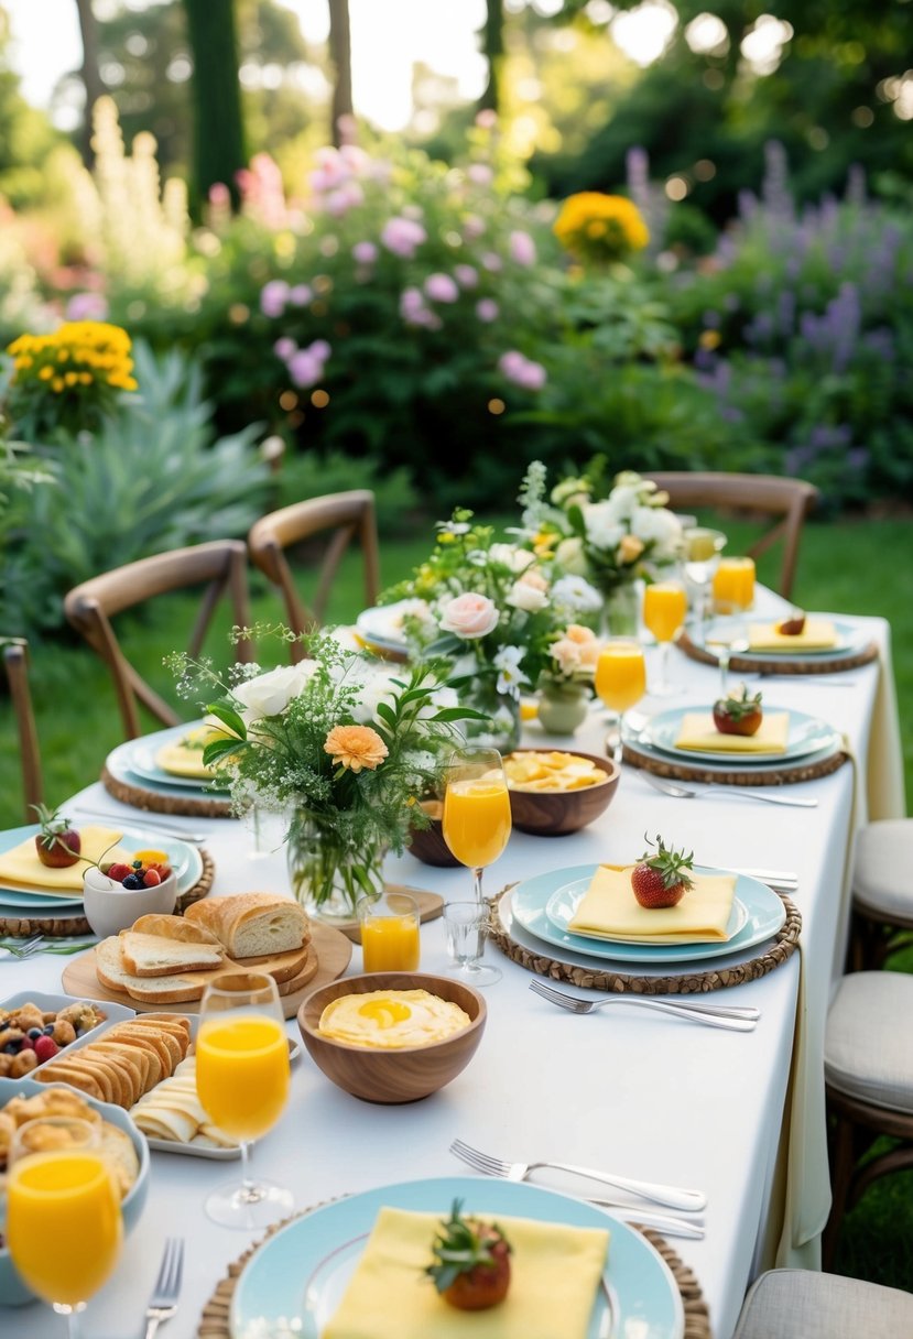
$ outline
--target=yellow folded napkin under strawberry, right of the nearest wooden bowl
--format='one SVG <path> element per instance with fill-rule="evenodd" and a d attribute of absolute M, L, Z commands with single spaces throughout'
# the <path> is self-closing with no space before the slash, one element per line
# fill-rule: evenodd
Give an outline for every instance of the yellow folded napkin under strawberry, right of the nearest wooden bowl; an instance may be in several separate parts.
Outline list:
<path fill-rule="evenodd" d="M 692 874 L 677 907 L 641 907 L 631 886 L 633 865 L 600 865 L 568 921 L 576 935 L 612 940 L 703 944 L 727 940 L 735 874 Z"/>

